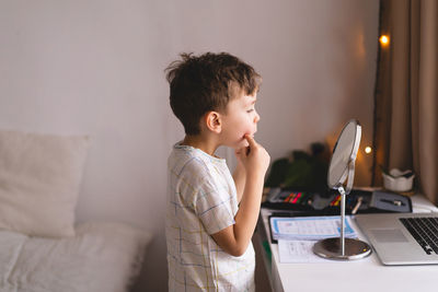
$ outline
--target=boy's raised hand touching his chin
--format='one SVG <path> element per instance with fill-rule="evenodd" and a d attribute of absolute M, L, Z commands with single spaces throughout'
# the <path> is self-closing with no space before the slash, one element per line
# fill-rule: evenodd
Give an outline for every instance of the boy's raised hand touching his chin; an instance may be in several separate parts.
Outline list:
<path fill-rule="evenodd" d="M 239 163 L 242 163 L 246 174 L 257 172 L 264 175 L 269 166 L 269 154 L 250 135 L 245 135 L 245 139 L 249 147 L 235 151 Z"/>

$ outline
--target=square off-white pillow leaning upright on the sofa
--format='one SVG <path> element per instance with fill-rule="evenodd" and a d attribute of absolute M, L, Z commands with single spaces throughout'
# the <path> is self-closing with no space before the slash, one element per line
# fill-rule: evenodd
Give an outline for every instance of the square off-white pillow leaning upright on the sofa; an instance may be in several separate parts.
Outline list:
<path fill-rule="evenodd" d="M 89 139 L 0 130 L 0 229 L 74 235 Z"/>

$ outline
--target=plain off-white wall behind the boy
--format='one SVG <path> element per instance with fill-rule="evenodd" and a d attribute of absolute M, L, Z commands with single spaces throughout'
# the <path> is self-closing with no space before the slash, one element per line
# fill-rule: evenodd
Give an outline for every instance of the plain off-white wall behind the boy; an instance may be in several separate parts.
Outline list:
<path fill-rule="evenodd" d="M 163 69 L 182 51 L 230 51 L 263 75 L 256 139 L 273 160 L 372 135 L 378 0 L 0 2 L 0 128 L 92 138 L 78 221 L 153 232 L 150 291 L 166 287 L 165 163 L 183 137 Z M 359 185 L 370 159 L 358 159 Z"/>

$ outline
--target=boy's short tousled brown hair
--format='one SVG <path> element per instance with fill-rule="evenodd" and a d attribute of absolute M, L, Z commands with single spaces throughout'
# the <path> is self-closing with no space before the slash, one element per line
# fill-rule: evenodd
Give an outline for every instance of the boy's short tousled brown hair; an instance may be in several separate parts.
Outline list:
<path fill-rule="evenodd" d="M 200 132 L 200 118 L 210 110 L 226 113 L 231 98 L 254 94 L 262 78 L 254 68 L 227 54 L 181 54 L 166 69 L 170 104 L 186 135 Z"/>

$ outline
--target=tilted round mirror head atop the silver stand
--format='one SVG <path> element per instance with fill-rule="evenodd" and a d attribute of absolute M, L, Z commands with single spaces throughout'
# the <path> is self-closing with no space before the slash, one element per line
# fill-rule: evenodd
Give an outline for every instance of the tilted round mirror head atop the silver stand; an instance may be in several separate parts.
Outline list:
<path fill-rule="evenodd" d="M 327 184 L 330 188 L 337 188 L 344 184 L 348 165 L 356 160 L 359 149 L 361 128 L 357 120 L 351 119 L 345 125 L 333 149 L 330 161 Z M 349 177 L 348 179 L 353 179 Z"/>

